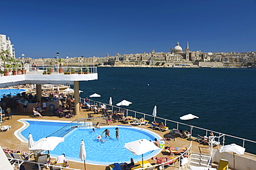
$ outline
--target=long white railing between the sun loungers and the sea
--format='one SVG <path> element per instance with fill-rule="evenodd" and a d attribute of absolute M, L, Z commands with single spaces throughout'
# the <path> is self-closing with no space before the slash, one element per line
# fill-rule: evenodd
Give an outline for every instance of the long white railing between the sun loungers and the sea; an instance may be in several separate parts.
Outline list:
<path fill-rule="evenodd" d="M 84 99 L 83 98 L 80 98 L 80 102 L 84 102 Z M 101 103 L 103 102 L 98 102 L 98 101 L 95 101 L 95 100 L 89 100 L 90 103 L 99 103 L 98 106 L 100 106 Z M 256 151 L 256 141 L 253 141 L 253 140 L 248 140 L 248 139 L 244 139 L 244 138 L 239 138 L 239 137 L 236 137 L 236 136 L 233 136 L 233 135 L 228 135 L 228 134 L 225 134 L 225 133 L 221 133 L 221 132 L 218 132 L 218 131 L 212 131 L 212 130 L 209 130 L 209 129 L 204 129 L 204 128 L 201 128 L 201 127 L 198 127 L 198 126 L 193 126 L 191 124 L 184 124 L 184 123 L 181 123 L 181 122 L 176 122 L 174 120 L 168 120 L 168 119 L 165 119 L 163 117 L 154 117 L 153 115 L 149 115 L 147 113 L 140 113 L 138 111 L 132 111 L 132 110 L 129 110 L 127 108 L 121 108 L 121 107 L 118 107 L 118 106 L 111 106 L 109 104 L 105 104 L 107 106 L 107 108 L 111 109 L 112 111 L 114 111 L 115 109 L 117 109 L 118 111 L 121 111 L 121 110 L 125 110 L 125 116 L 127 115 L 132 115 L 134 117 L 143 117 L 145 120 L 154 120 L 154 118 L 156 118 L 157 120 L 161 120 L 164 122 L 165 126 L 170 126 L 170 124 L 176 124 L 176 129 L 179 129 L 179 126 L 188 126 L 190 128 L 190 131 L 191 131 L 191 135 L 193 133 L 193 131 L 205 131 L 205 135 L 208 136 L 208 133 L 209 132 L 212 132 L 212 133 L 215 133 L 215 134 L 218 134 L 216 138 L 218 138 L 218 142 L 219 144 L 222 144 L 222 145 L 225 145 L 225 141 L 226 141 L 226 137 L 229 137 L 229 138 L 232 138 L 232 140 L 239 140 L 240 142 L 242 142 L 242 144 L 240 144 L 242 147 L 245 147 L 245 142 L 250 142 L 250 144 L 253 144 L 253 147 L 248 147 L 246 149 L 247 152 L 250 153 L 250 151 Z M 221 142 L 222 141 L 222 142 Z M 232 141 L 233 142 L 233 141 Z"/>

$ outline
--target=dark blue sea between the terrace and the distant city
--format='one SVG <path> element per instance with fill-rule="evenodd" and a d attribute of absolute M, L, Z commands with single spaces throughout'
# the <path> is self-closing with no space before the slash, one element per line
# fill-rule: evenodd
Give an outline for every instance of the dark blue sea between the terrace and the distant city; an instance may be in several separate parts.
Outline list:
<path fill-rule="evenodd" d="M 125 108 L 149 115 L 157 106 L 158 117 L 256 141 L 253 68 L 99 67 L 98 80 L 80 82 L 80 90 L 83 98 L 98 93 L 101 97 L 89 99 L 108 104 L 112 97 L 113 105 L 128 100 L 132 104 Z M 188 113 L 199 119 L 180 120 Z M 226 139 L 226 144 L 234 142 Z"/>

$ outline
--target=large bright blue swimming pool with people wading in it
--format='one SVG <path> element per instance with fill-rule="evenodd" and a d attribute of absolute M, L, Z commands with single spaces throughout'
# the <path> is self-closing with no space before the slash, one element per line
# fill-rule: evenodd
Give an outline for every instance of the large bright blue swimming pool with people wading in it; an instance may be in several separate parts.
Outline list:
<path fill-rule="evenodd" d="M 15 135 L 22 142 L 28 141 L 28 134 L 33 135 L 35 141 L 40 138 L 44 138 L 51 133 L 54 133 L 58 129 L 62 128 L 69 122 L 66 121 L 34 121 L 34 120 L 19 120 L 23 122 L 24 126 L 15 132 Z M 119 139 L 116 139 L 115 128 L 119 129 Z M 111 138 L 102 137 L 103 140 L 107 142 L 99 142 L 96 137 L 101 135 L 104 129 L 109 129 Z M 125 149 L 125 143 L 132 142 L 140 139 L 154 140 L 157 138 L 159 142 L 161 141 L 161 136 L 149 131 L 147 129 L 141 129 L 133 126 L 101 126 L 101 129 L 92 128 L 76 128 L 70 133 L 64 136 L 64 142 L 60 143 L 53 151 L 50 151 L 53 157 L 57 157 L 62 153 L 66 154 L 68 160 L 73 160 L 77 162 L 82 162 L 79 158 L 80 152 L 80 142 L 84 140 L 86 147 L 86 163 L 89 164 L 101 164 L 108 165 L 114 162 L 129 162 L 130 158 L 134 158 L 135 161 L 141 160 L 141 155 L 134 155 L 127 149 Z M 157 155 L 161 152 L 161 149 L 156 151 L 150 151 L 145 153 L 144 159 L 152 158 L 152 156 Z"/>

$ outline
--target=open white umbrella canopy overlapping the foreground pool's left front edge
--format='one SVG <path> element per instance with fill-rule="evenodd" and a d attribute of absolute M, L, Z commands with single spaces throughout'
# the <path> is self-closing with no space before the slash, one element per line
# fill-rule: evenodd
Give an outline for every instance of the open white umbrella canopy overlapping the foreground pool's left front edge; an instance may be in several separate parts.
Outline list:
<path fill-rule="evenodd" d="M 64 138 L 60 137 L 48 137 L 48 138 L 42 138 L 38 140 L 33 147 L 28 148 L 29 150 L 45 150 L 45 151 L 53 151 L 55 147 L 57 147 L 58 144 L 61 142 L 64 142 Z"/>

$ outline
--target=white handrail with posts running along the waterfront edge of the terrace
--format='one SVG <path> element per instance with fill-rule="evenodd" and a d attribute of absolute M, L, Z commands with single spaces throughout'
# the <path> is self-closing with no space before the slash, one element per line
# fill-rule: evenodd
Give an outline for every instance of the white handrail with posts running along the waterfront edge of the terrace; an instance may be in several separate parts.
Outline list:
<path fill-rule="evenodd" d="M 81 98 L 81 101 L 84 102 L 85 99 Z M 95 101 L 95 100 L 89 100 L 89 102 L 93 102 L 93 104 L 95 104 L 96 102 L 97 102 L 97 103 L 104 103 L 104 102 L 98 102 L 98 101 Z M 175 124 L 176 124 L 176 129 L 179 129 L 179 125 L 181 124 L 181 125 L 190 127 L 191 131 L 193 131 L 193 129 L 200 129 L 200 130 L 206 131 L 206 135 L 207 135 L 207 133 L 208 133 L 209 131 L 212 132 L 212 133 L 217 133 L 217 134 L 219 134 L 219 136 L 217 137 L 217 138 L 219 138 L 219 140 L 220 140 L 220 138 L 223 138 L 222 145 L 225 144 L 225 140 L 226 140 L 225 137 L 230 137 L 230 138 L 235 138 L 235 139 L 237 139 L 237 140 L 242 140 L 242 142 L 243 142 L 242 147 L 245 147 L 245 142 L 252 142 L 252 143 L 256 144 L 256 141 L 248 140 L 248 139 L 245 139 L 245 138 L 240 138 L 240 137 L 237 137 L 237 136 L 234 136 L 234 135 L 228 135 L 228 134 L 226 134 L 226 133 L 221 133 L 221 132 L 218 132 L 218 131 L 212 131 L 212 130 L 209 130 L 209 129 L 204 129 L 204 128 L 201 128 L 201 127 L 199 127 L 199 126 L 193 126 L 193 125 L 190 125 L 190 124 L 185 124 L 185 123 L 177 122 L 177 121 L 174 121 L 174 120 L 168 120 L 168 119 L 163 118 L 163 117 L 157 117 L 157 116 L 154 117 L 153 115 L 149 115 L 149 114 L 147 114 L 147 113 L 140 113 L 140 112 L 138 112 L 138 111 L 132 111 L 132 110 L 129 110 L 129 109 L 127 109 L 127 108 L 121 108 L 121 107 L 113 106 L 113 105 L 109 105 L 109 104 L 105 104 L 105 105 L 106 105 L 107 107 L 111 108 L 112 111 L 113 111 L 113 109 L 115 109 L 115 108 L 117 108 L 119 111 L 120 111 L 121 109 L 124 109 L 124 110 L 125 110 L 125 113 L 126 113 L 126 114 L 125 114 L 126 116 L 128 115 L 128 113 L 134 113 L 134 117 L 136 117 L 136 114 L 139 114 L 139 115 L 143 115 L 144 119 L 146 118 L 146 116 L 147 116 L 147 117 L 156 118 L 156 119 L 159 119 L 159 120 L 163 120 L 163 121 L 165 122 L 165 126 L 166 126 L 167 122 L 175 123 Z M 192 134 L 191 134 L 191 135 L 192 135 Z M 219 141 L 219 142 L 220 142 L 220 141 Z M 248 151 L 248 149 L 247 149 L 247 151 Z"/>

